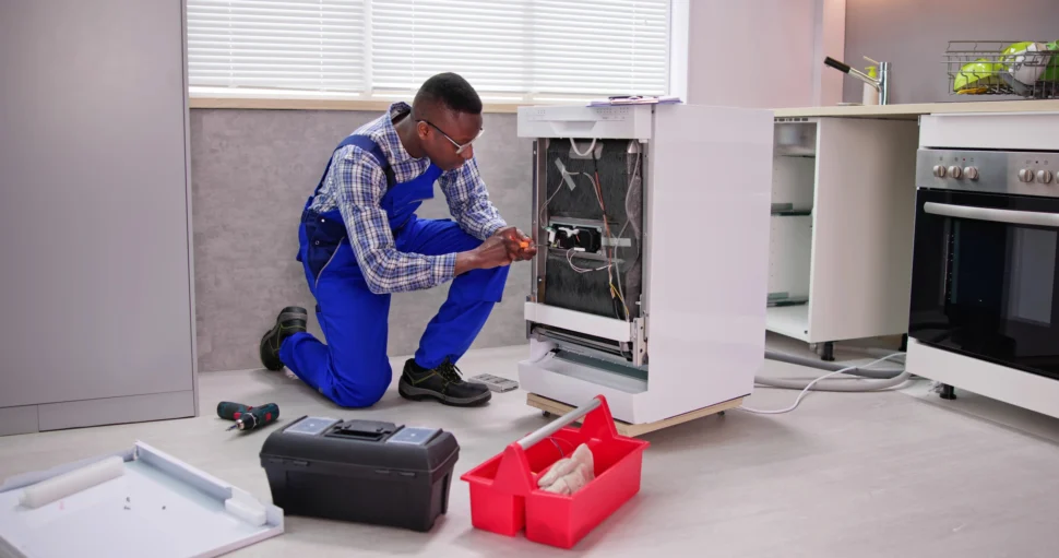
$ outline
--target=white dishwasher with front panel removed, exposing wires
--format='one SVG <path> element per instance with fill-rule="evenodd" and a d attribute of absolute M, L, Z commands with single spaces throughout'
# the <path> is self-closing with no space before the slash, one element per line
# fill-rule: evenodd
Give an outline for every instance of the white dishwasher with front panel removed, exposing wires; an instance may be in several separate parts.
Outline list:
<path fill-rule="evenodd" d="M 764 358 L 773 116 L 519 110 L 534 140 L 531 393 L 645 424 L 749 395 Z"/>

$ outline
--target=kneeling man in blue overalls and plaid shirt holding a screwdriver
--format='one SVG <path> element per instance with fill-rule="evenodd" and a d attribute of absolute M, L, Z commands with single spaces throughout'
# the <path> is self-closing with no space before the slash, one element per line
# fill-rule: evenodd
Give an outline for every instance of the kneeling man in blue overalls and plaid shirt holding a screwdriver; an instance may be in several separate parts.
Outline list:
<path fill-rule="evenodd" d="M 500 301 L 508 265 L 536 248 L 489 201 L 474 158 L 481 131 L 478 94 L 443 73 L 423 84 L 410 107 L 392 105 L 338 144 L 298 230 L 298 261 L 328 344 L 306 332 L 304 308 L 284 308 L 261 340 L 266 368 L 288 367 L 338 405 L 370 406 L 392 379 L 391 294 L 452 280 L 398 392 L 449 405 L 489 401 L 488 388 L 464 381 L 455 364 Z M 455 221 L 415 215 L 435 181 Z"/>

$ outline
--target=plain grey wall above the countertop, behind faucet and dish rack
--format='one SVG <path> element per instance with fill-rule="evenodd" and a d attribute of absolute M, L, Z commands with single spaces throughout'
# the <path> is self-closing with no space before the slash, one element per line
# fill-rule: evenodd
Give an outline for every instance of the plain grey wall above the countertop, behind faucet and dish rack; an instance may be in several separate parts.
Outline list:
<path fill-rule="evenodd" d="M 950 40 L 1059 39 L 1059 0 L 846 0 L 846 58 L 893 62 L 892 103 L 983 100 L 949 94 Z M 843 98 L 859 103 L 864 84 L 846 78 Z"/>

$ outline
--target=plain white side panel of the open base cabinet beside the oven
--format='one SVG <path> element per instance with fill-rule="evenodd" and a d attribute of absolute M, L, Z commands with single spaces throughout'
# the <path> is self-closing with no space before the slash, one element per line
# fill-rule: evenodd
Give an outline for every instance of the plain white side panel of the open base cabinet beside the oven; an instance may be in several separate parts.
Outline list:
<path fill-rule="evenodd" d="M 809 342 L 908 329 L 916 200 L 915 120 L 821 118 Z"/>

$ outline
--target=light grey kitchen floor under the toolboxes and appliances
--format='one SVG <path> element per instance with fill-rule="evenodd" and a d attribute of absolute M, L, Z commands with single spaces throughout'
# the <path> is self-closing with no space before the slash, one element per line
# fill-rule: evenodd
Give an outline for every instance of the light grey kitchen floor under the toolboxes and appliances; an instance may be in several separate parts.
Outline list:
<path fill-rule="evenodd" d="M 525 347 L 478 351 L 462 364 L 468 375 L 514 377 L 524 354 Z M 817 371 L 766 361 L 764 373 Z M 405 402 L 391 392 L 376 408 L 356 412 L 262 370 L 202 375 L 200 389 L 198 418 L 0 438 L 0 478 L 139 439 L 269 499 L 258 462 L 266 432 L 225 431 L 228 423 L 212 408 L 221 400 L 273 401 L 282 420 L 312 414 L 440 426 L 461 444 L 457 476 L 545 423 L 521 391 L 498 394 L 477 409 Z M 1055 556 L 1048 547 L 1059 544 L 1059 422 L 960 395 L 942 401 L 923 381 L 900 392 L 813 393 L 785 415 L 733 411 L 649 435 L 641 492 L 574 554 Z M 785 407 L 794 396 L 760 389 L 748 404 Z M 429 534 L 287 517 L 285 534 L 231 556 L 501 553 L 571 554 L 473 530 L 467 487 L 456 479 L 449 513 Z"/>

